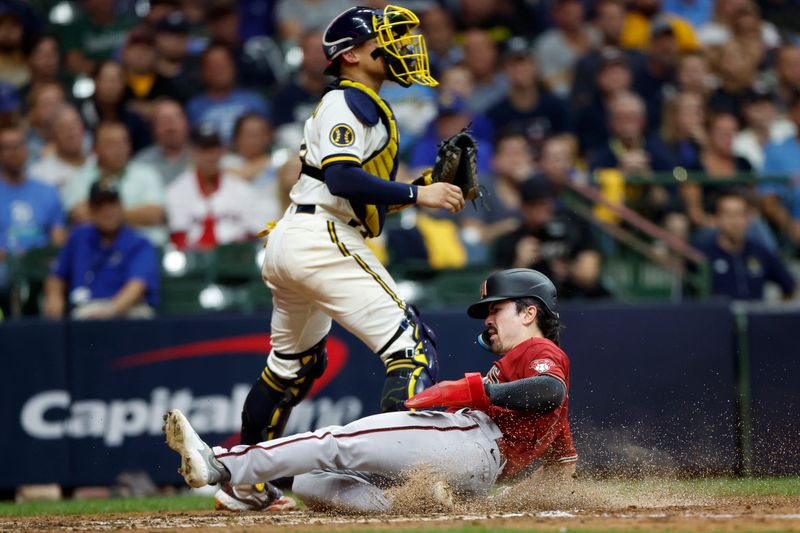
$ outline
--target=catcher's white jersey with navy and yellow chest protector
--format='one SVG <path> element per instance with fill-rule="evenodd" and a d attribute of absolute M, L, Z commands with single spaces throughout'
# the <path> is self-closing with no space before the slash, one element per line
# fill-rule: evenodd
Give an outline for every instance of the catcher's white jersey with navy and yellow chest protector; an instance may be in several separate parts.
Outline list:
<path fill-rule="evenodd" d="M 387 206 L 334 196 L 322 170 L 333 163 L 352 162 L 393 181 L 397 151 L 397 125 L 389 105 L 360 83 L 337 80 L 306 120 L 300 149 L 303 171 L 290 197 L 296 204 L 321 206 L 345 221 L 357 219 L 370 236 L 376 236 L 383 228 Z"/>

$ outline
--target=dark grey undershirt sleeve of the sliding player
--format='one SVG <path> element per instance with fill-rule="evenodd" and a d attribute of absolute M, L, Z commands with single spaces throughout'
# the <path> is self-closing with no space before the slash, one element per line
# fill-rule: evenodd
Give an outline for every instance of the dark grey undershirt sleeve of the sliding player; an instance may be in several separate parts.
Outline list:
<path fill-rule="evenodd" d="M 509 383 L 487 383 L 485 388 L 492 405 L 537 414 L 555 410 L 564 402 L 567 394 L 564 384 L 552 376 L 536 376 Z"/>

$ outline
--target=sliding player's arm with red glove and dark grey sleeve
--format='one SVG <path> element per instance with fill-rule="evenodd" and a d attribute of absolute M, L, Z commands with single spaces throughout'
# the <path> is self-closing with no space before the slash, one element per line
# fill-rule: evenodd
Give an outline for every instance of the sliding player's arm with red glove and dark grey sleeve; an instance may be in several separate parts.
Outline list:
<path fill-rule="evenodd" d="M 564 403 L 567 390 L 553 376 L 534 376 L 509 383 L 484 383 L 476 373 L 464 375 L 458 381 L 442 381 L 406 401 L 406 407 L 476 407 L 490 405 L 515 411 L 546 414 Z"/>

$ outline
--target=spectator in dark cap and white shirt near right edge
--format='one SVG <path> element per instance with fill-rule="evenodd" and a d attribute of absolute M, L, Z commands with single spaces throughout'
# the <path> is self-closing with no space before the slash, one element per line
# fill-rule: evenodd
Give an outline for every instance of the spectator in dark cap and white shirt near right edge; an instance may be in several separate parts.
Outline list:
<path fill-rule="evenodd" d="M 777 96 L 761 84 L 750 87 L 742 101 L 744 129 L 733 140 L 733 151 L 754 169 L 764 166 L 767 144 L 781 143 L 797 133 L 794 123 L 778 114 L 776 101 Z"/>

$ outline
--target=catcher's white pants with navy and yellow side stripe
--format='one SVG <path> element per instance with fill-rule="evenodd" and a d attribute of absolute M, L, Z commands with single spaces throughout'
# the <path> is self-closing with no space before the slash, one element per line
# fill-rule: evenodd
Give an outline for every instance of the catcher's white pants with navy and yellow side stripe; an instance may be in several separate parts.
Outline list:
<path fill-rule="evenodd" d="M 397 284 L 356 228 L 320 207 L 316 214 L 294 210 L 290 206 L 270 232 L 262 267 L 272 290 L 273 351 L 309 349 L 328 334 L 334 319 L 378 352 L 405 317 Z M 414 348 L 412 335 L 408 328 L 383 355 Z M 270 353 L 267 366 L 292 379 L 301 364 Z"/>

